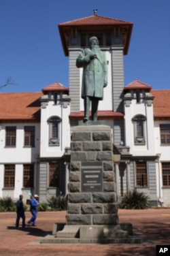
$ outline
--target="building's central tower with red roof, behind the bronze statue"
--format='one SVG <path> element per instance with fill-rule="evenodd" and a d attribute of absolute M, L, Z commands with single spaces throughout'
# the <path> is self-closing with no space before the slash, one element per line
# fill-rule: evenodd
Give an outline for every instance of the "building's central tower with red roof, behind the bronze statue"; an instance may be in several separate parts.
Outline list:
<path fill-rule="evenodd" d="M 82 120 L 84 104 L 81 99 L 82 69 L 75 65 L 82 48 L 88 47 L 88 39 L 96 36 L 101 50 L 106 52 L 108 84 L 103 101 L 99 103 L 99 119 L 109 120 L 114 129 L 114 143 L 124 140 L 122 91 L 124 89 L 124 54 L 128 53 L 133 29 L 132 22 L 94 15 L 58 25 L 65 56 L 69 57 L 69 95 L 71 97 L 71 127 Z M 115 120 L 115 121 L 113 121 Z"/>

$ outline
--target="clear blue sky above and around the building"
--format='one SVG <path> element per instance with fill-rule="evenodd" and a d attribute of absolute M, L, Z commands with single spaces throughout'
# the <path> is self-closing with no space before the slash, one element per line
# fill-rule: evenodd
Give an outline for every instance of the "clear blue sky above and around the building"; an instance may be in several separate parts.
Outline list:
<path fill-rule="evenodd" d="M 0 0 L 0 92 L 31 92 L 55 81 L 69 86 L 58 24 L 93 15 L 133 22 L 124 84 L 135 79 L 170 89 L 169 0 Z"/>

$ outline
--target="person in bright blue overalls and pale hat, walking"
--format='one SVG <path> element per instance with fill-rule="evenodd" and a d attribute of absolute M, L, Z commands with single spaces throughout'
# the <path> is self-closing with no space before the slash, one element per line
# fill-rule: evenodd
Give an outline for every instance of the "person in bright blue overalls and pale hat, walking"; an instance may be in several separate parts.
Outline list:
<path fill-rule="evenodd" d="M 30 200 L 30 212 L 32 214 L 31 219 L 28 221 L 29 225 L 36 226 L 36 220 L 37 220 L 37 208 L 39 206 L 38 202 L 39 196 L 38 195 L 31 195 Z"/>

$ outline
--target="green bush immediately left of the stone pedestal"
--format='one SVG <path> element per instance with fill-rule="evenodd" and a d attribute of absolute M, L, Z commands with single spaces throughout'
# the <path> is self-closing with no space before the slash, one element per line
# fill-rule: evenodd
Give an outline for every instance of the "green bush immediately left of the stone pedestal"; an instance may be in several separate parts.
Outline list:
<path fill-rule="evenodd" d="M 67 210 L 67 196 L 59 195 L 56 197 L 52 195 L 48 200 L 48 205 L 52 210 Z"/>

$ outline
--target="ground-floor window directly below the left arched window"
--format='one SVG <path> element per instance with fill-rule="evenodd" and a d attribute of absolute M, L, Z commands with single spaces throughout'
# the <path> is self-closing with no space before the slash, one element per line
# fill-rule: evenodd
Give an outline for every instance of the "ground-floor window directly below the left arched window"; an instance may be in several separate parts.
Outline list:
<path fill-rule="evenodd" d="M 49 187 L 60 186 L 60 163 L 49 163 Z"/>

